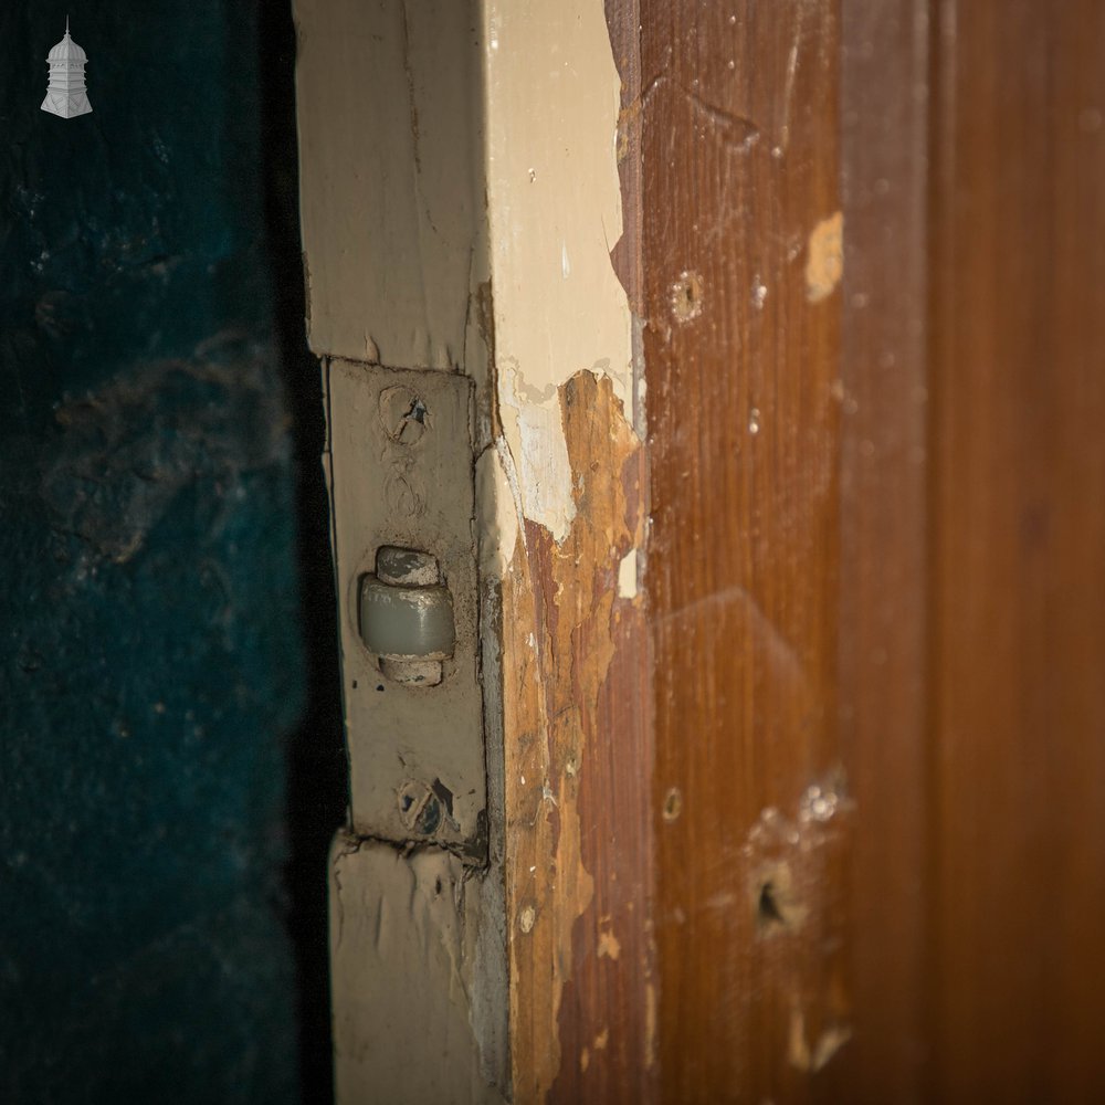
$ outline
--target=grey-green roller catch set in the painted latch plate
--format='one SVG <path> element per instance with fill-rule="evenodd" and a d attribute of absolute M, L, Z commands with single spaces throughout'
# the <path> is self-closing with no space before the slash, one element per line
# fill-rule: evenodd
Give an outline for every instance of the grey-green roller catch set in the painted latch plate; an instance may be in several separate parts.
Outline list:
<path fill-rule="evenodd" d="M 382 546 L 360 581 L 360 639 L 397 683 L 436 686 L 453 654 L 453 598 L 429 552 Z"/>

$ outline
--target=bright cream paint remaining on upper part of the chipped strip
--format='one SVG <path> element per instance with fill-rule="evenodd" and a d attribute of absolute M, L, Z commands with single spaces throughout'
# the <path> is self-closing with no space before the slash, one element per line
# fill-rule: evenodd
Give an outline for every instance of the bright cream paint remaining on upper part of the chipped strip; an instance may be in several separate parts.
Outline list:
<path fill-rule="evenodd" d="M 620 80 L 602 0 L 483 11 L 499 414 L 523 513 L 560 543 L 575 515 L 560 385 L 608 376 L 631 409 L 631 315 L 610 263 Z"/>

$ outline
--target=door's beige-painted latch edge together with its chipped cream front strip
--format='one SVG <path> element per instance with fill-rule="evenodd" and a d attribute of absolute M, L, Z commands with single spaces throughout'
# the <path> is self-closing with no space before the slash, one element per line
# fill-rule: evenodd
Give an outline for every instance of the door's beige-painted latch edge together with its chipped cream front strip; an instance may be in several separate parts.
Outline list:
<path fill-rule="evenodd" d="M 330 862 L 338 1099 L 540 1101 L 615 1048 L 646 1072 L 648 862 L 610 870 L 601 812 L 610 727 L 641 751 L 646 734 L 610 691 L 641 655 L 646 503 L 603 6 L 294 11 L 351 762 Z M 433 686 L 364 644 L 386 545 L 432 556 L 449 588 Z M 624 772 L 642 856 L 648 785 L 646 760 Z"/>

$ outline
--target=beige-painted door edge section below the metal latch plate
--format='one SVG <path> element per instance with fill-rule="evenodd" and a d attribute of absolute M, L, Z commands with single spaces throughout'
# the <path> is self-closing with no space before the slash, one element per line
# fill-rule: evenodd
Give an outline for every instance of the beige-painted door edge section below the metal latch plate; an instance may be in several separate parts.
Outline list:
<path fill-rule="evenodd" d="M 337 1099 L 506 1099 L 499 955 L 482 946 L 487 882 L 440 849 L 409 855 L 339 833 L 330 853 Z M 477 1015 L 478 1014 L 478 1015 Z M 423 1042 L 418 1062 L 409 1044 Z"/>

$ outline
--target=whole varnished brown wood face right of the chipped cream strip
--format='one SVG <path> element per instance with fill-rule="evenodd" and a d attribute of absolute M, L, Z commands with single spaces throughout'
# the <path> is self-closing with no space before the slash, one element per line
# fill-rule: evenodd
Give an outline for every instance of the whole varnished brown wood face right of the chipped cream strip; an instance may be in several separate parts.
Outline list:
<path fill-rule="evenodd" d="M 1105 7 L 839 10 L 641 11 L 662 1096 L 1095 1099 Z"/>

